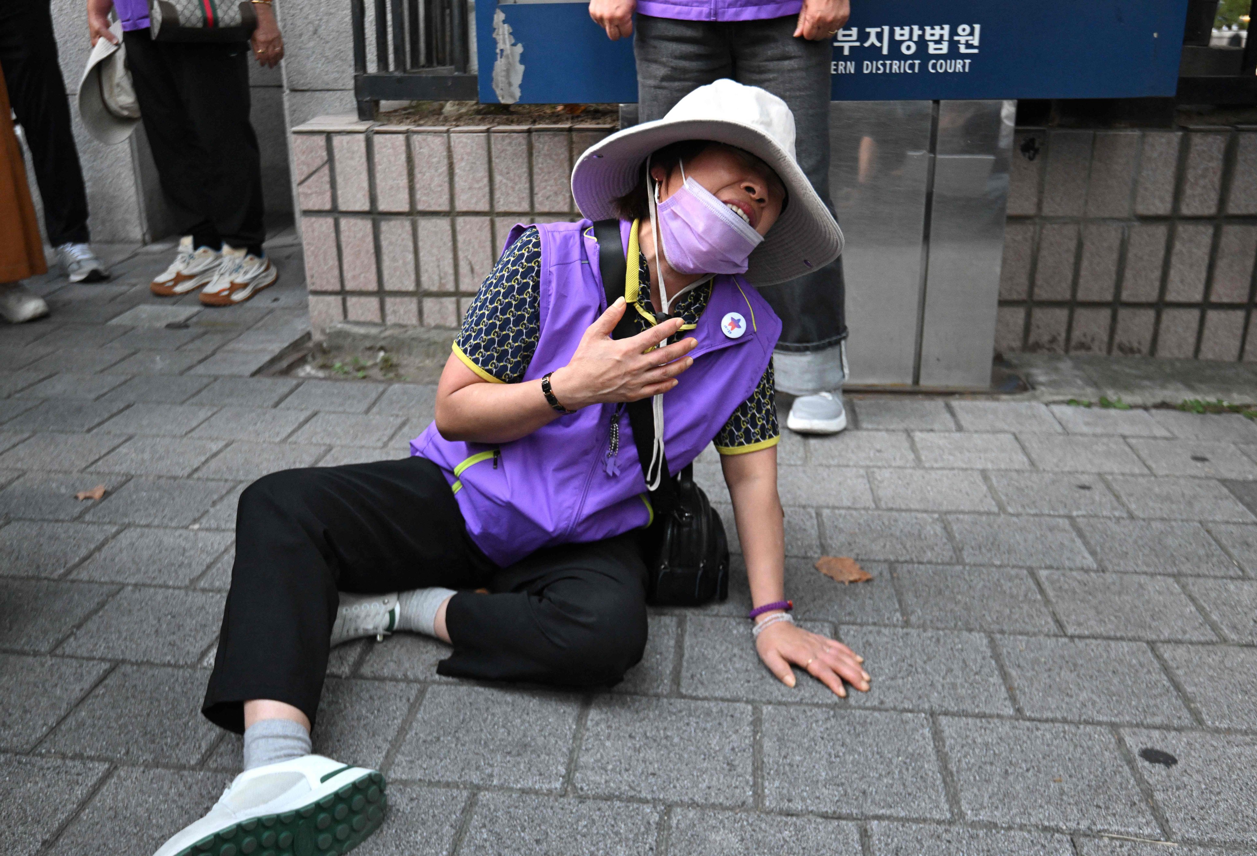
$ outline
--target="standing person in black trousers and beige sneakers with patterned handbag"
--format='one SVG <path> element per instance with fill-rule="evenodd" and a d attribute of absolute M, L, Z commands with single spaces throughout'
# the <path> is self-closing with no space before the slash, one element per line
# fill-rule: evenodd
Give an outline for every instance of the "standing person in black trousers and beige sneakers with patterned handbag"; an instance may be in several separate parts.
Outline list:
<path fill-rule="evenodd" d="M 224 0 L 206 0 L 212 6 Z M 150 284 L 158 297 L 201 289 L 205 305 L 243 303 L 279 273 L 261 249 L 261 155 L 249 121 L 250 47 L 260 65 L 284 58 L 272 0 L 251 0 L 250 41 L 157 41 L 147 0 L 87 0 L 92 44 L 117 43 L 109 10 L 122 23 L 127 68 L 152 148 L 157 177 L 182 236 L 171 265 Z"/>

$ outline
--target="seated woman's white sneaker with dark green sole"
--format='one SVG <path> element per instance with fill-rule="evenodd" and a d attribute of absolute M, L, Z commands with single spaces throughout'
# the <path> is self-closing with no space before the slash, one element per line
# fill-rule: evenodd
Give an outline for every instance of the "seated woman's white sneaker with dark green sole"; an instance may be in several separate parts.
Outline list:
<path fill-rule="evenodd" d="M 209 815 L 155 856 L 346 853 L 380 827 L 387 804 L 376 771 L 303 755 L 236 776 Z"/>

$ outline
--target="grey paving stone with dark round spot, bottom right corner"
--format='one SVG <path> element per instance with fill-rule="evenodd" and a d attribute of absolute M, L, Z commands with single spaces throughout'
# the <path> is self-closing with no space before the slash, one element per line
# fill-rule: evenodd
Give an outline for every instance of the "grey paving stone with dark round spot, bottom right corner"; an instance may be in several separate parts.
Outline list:
<path fill-rule="evenodd" d="M 1139 772 L 1174 837 L 1257 843 L 1257 738 L 1123 729 L 1135 755 L 1145 747 L 1178 758 L 1172 767 L 1139 759 Z"/>

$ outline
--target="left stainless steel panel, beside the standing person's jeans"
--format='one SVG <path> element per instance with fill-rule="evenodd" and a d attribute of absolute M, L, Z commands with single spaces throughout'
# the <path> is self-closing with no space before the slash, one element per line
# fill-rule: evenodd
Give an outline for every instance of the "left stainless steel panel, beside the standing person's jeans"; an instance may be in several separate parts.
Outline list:
<path fill-rule="evenodd" d="M 847 240 L 852 383 L 913 382 L 931 117 L 928 101 L 830 107 L 830 190 Z"/>

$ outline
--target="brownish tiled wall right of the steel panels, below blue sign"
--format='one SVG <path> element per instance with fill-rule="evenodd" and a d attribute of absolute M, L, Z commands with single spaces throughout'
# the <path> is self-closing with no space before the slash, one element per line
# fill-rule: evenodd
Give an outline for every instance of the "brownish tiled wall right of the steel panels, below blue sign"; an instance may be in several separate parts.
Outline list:
<path fill-rule="evenodd" d="M 1257 127 L 1018 128 L 1011 181 L 998 351 L 1257 361 Z"/>

